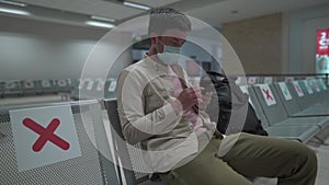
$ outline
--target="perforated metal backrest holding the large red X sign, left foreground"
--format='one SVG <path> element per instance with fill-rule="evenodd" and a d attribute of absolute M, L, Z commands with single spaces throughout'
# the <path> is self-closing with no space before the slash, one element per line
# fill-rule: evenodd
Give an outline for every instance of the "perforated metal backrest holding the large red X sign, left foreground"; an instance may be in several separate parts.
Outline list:
<path fill-rule="evenodd" d="M 53 106 L 53 104 L 49 105 Z M 16 109 L 19 107 L 11 108 Z M 39 111 L 44 109 L 41 106 L 38 108 Z M 5 113 L 7 116 L 0 116 L 3 118 L 0 120 L 0 132 L 2 135 L 0 137 L 0 184 L 105 184 L 103 176 L 104 167 L 100 160 L 100 153 L 90 141 L 91 139 L 83 126 L 84 124 L 93 124 L 92 119 L 90 119 L 88 105 L 80 106 L 79 108 L 71 105 L 71 109 L 78 142 L 81 148 L 81 155 L 22 172 L 19 172 L 16 165 L 18 155 L 15 154 L 12 120 L 8 116 L 9 113 Z M 57 129 L 60 129 L 61 126 Z M 35 134 L 29 131 L 26 132 L 26 139 L 30 138 L 27 136 L 34 137 Z M 52 146 L 52 143 L 47 142 L 43 150 L 49 147 L 47 144 Z M 45 158 L 45 154 L 43 158 Z M 106 181 L 111 185 L 118 185 L 115 183 L 117 181 L 115 174 L 112 174 L 112 178 L 106 178 Z"/>

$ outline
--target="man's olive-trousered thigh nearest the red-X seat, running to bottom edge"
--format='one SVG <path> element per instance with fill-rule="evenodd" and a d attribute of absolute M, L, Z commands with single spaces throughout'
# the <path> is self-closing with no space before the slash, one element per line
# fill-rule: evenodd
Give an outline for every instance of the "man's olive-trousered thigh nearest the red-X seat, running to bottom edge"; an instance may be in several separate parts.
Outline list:
<path fill-rule="evenodd" d="M 160 177 L 169 185 L 252 185 L 216 155 L 217 149 L 212 141 L 188 164 Z"/>

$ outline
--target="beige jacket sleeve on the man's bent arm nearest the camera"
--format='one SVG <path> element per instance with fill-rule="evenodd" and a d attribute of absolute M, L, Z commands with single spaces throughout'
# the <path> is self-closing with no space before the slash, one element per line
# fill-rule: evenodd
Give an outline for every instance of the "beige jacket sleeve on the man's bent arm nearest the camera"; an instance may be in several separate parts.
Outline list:
<path fill-rule="evenodd" d="M 146 82 L 134 71 L 124 70 L 117 80 L 117 111 L 123 135 L 132 144 L 171 131 L 181 118 L 168 102 L 164 102 L 162 107 L 145 114 L 145 86 Z"/>

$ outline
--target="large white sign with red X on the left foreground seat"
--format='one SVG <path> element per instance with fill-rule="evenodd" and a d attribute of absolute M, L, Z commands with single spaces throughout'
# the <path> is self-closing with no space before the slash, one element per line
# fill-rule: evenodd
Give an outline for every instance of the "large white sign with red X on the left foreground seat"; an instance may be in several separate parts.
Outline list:
<path fill-rule="evenodd" d="M 19 172 L 81 157 L 70 105 L 10 111 Z"/>

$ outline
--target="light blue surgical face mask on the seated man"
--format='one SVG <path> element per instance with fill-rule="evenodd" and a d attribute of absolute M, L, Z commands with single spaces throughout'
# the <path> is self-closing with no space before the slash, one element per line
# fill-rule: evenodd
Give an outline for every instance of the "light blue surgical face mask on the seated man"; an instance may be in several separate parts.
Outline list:
<path fill-rule="evenodd" d="M 168 46 L 163 44 L 163 53 L 158 54 L 158 58 L 166 65 L 173 65 L 179 61 L 181 54 L 181 47 Z"/>

